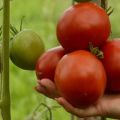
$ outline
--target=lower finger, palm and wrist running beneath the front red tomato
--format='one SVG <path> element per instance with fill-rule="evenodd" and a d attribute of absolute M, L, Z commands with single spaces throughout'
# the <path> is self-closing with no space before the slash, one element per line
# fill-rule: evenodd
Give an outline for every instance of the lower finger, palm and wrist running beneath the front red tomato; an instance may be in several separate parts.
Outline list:
<path fill-rule="evenodd" d="M 80 118 L 104 116 L 111 118 L 120 118 L 120 95 L 105 95 L 99 101 L 85 109 L 73 107 L 64 98 L 59 97 L 55 100 L 64 107 L 66 111 Z"/>

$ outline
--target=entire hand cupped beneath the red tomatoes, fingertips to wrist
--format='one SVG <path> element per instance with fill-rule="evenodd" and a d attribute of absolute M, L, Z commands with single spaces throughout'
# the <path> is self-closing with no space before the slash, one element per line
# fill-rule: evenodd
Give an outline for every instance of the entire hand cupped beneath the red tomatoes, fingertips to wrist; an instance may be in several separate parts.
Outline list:
<path fill-rule="evenodd" d="M 66 111 L 78 117 L 105 116 L 120 118 L 120 95 L 105 95 L 96 104 L 86 109 L 79 109 L 60 97 L 55 84 L 49 79 L 38 80 L 36 90 L 49 98 L 55 99 Z"/>

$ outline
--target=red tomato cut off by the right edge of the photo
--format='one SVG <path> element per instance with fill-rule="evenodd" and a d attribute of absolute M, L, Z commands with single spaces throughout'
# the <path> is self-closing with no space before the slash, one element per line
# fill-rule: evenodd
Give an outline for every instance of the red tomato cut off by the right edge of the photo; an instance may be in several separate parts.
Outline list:
<path fill-rule="evenodd" d="M 106 92 L 120 92 L 120 38 L 107 42 L 102 51 L 102 62 L 107 73 Z"/>

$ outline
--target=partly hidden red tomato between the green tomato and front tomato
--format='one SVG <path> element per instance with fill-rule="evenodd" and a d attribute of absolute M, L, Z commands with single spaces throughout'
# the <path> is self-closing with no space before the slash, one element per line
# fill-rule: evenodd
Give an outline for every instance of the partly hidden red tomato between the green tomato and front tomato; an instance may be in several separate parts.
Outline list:
<path fill-rule="evenodd" d="M 62 56 L 65 54 L 61 46 L 46 51 L 36 63 L 36 75 L 38 79 L 49 78 L 54 80 L 56 66 Z"/>

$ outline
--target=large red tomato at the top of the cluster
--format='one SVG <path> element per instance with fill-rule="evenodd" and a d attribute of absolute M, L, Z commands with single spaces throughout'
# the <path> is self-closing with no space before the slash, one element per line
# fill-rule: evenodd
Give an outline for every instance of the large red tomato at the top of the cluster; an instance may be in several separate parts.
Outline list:
<path fill-rule="evenodd" d="M 102 46 L 111 32 L 107 13 L 95 3 L 78 3 L 68 8 L 57 24 L 57 38 L 66 51 L 87 49 L 91 42 Z"/>

